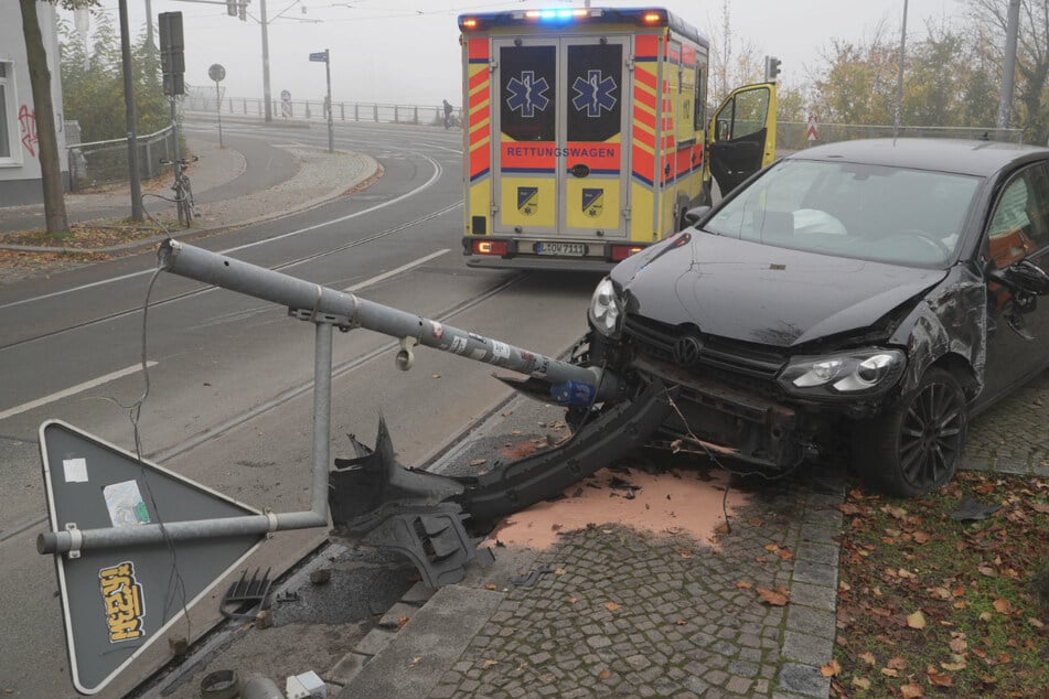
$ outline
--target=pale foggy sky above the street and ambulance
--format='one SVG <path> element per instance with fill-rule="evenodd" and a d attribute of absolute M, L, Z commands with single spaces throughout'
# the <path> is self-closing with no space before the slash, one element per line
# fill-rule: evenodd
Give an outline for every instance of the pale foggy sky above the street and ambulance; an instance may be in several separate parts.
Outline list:
<path fill-rule="evenodd" d="M 260 2 L 251 0 L 248 20 L 228 17 L 224 0 L 207 2 L 150 0 L 156 15 L 182 12 L 185 80 L 214 89 L 207 68 L 226 69 L 228 97 L 261 97 Z M 269 39 L 270 89 L 275 99 L 287 89 L 293 99 L 322 99 L 324 64 L 309 54 L 331 51 L 332 99 L 402 105 L 439 105 L 461 98 L 459 14 L 525 8 L 568 7 L 565 0 L 265 0 Z M 147 0 L 128 0 L 135 37 L 146 31 Z M 571 3 L 582 7 L 582 0 Z M 700 30 L 720 35 L 721 1 L 671 0 L 646 6 L 623 0 L 593 0 L 592 7 L 664 7 Z M 908 42 L 924 39 L 928 20 L 936 23 L 963 9 L 961 0 L 909 0 Z M 101 7 L 119 26 L 118 0 Z M 303 11 L 304 9 L 304 11 Z M 759 55 L 782 61 L 780 82 L 800 85 L 820 65 L 831 39 L 869 39 L 879 22 L 899 39 L 903 0 L 731 0 L 737 46 L 750 43 Z M 63 12 L 63 17 L 71 13 Z"/>

